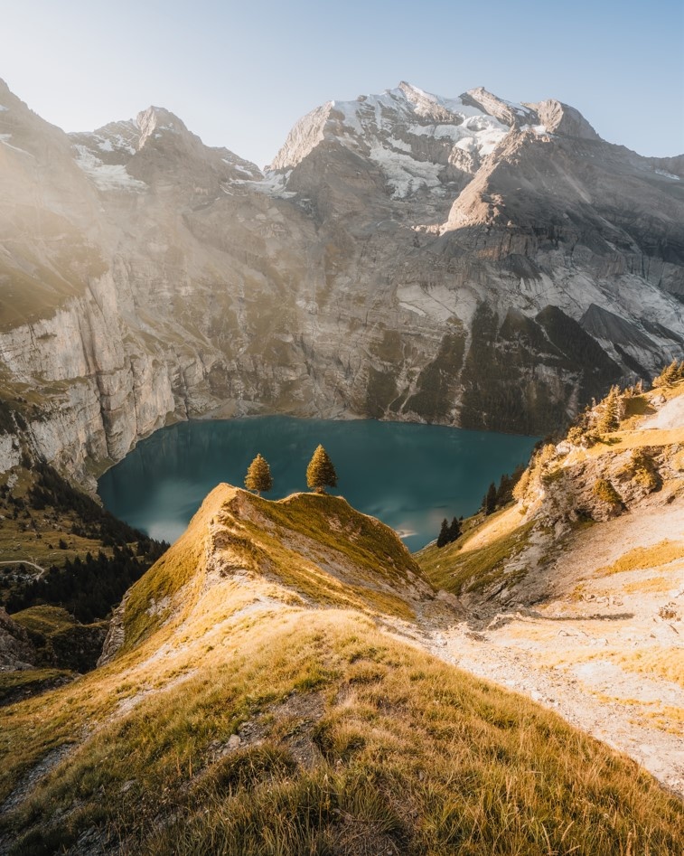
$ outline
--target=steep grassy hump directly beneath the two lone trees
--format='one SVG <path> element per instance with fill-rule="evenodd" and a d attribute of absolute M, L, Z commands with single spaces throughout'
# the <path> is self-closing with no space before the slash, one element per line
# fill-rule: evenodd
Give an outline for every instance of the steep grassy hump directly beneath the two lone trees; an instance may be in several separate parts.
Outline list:
<path fill-rule="evenodd" d="M 183 620 L 201 591 L 207 550 L 233 570 L 276 582 L 276 597 L 300 605 L 313 602 L 411 619 L 414 612 L 402 597 L 409 579 L 430 589 L 396 534 L 341 497 L 295 494 L 269 502 L 220 484 L 183 536 L 130 589 L 126 650 L 170 616 Z"/>

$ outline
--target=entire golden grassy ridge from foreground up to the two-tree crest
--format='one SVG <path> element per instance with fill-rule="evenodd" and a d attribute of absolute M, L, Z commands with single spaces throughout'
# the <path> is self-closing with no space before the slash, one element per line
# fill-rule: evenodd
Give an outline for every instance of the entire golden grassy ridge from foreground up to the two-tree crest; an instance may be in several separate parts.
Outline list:
<path fill-rule="evenodd" d="M 453 602 L 341 498 L 220 485 L 100 668 L 0 710 L 0 852 L 672 852 L 631 761 L 408 644 Z"/>

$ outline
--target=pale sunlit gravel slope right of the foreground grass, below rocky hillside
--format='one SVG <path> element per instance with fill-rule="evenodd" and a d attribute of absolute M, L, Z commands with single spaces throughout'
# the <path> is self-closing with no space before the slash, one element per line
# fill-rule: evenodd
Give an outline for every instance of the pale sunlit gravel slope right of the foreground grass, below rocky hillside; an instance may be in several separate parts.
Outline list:
<path fill-rule="evenodd" d="M 680 542 L 681 558 L 602 570 L 661 541 Z M 418 641 L 555 710 L 684 798 L 684 497 L 666 508 L 655 499 L 569 547 L 529 579 L 533 610 L 492 614 L 483 628 L 427 607 Z"/>

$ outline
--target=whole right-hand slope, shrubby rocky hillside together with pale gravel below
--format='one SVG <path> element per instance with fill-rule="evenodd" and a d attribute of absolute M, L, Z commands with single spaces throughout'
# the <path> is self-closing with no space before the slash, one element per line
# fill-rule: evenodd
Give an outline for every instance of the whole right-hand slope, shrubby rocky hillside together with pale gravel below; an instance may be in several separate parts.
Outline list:
<path fill-rule="evenodd" d="M 526 692 L 684 795 L 684 383 L 605 403 L 533 457 L 518 503 L 417 554 L 466 620 L 448 662 Z M 600 437 L 600 439 L 598 439 Z"/>

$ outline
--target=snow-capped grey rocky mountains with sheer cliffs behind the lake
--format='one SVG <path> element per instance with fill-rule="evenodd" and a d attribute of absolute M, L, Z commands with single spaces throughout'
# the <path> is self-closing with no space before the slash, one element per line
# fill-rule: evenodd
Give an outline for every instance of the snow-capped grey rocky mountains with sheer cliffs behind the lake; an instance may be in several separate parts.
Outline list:
<path fill-rule="evenodd" d="M 0 105 L 0 394 L 80 477 L 210 413 L 543 432 L 684 353 L 681 158 L 558 101 L 402 83 L 266 172 L 161 108 L 67 136 Z"/>

